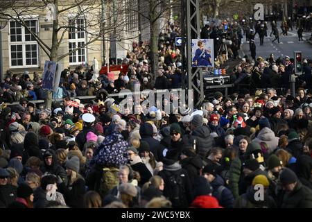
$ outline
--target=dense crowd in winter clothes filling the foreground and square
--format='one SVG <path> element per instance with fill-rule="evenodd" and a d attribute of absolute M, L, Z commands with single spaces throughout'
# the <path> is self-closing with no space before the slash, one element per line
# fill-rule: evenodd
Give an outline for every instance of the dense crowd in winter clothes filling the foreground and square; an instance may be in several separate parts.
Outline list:
<path fill-rule="evenodd" d="M 109 96 L 136 84 L 179 88 L 178 32 L 169 25 L 159 35 L 154 85 L 141 43 L 116 80 L 65 69 L 53 94 L 62 102 L 51 109 L 34 102 L 45 99 L 39 76 L 8 74 L 0 92 L 0 207 L 312 207 L 311 60 L 295 96 L 293 59 L 273 55 L 243 58 L 231 75 L 249 87 L 215 92 L 198 107 L 175 107 L 176 94 L 163 98 L 169 113 L 146 105 L 144 95 L 140 103 L 128 96 L 127 107 Z M 96 99 L 77 97 L 85 95 Z"/>

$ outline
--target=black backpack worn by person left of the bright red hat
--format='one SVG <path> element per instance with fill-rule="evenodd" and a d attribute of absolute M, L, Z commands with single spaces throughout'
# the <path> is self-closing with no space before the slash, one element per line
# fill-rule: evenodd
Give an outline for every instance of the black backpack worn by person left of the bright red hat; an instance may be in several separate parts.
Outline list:
<path fill-rule="evenodd" d="M 170 173 L 166 172 L 166 176 L 168 177 L 168 181 L 166 182 L 166 187 L 168 188 L 168 198 L 171 200 L 173 207 L 187 207 L 187 203 L 185 201 L 185 189 L 184 182 L 182 177 L 184 174 L 181 174 L 181 170 Z"/>

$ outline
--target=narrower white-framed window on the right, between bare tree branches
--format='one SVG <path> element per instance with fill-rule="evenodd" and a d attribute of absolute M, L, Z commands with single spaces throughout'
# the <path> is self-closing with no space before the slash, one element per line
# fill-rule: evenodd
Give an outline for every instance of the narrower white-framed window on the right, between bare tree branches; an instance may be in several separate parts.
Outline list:
<path fill-rule="evenodd" d="M 85 19 L 69 19 L 69 52 L 85 44 Z M 69 65 L 80 65 L 86 61 L 85 48 L 69 54 Z"/>

